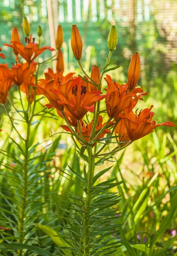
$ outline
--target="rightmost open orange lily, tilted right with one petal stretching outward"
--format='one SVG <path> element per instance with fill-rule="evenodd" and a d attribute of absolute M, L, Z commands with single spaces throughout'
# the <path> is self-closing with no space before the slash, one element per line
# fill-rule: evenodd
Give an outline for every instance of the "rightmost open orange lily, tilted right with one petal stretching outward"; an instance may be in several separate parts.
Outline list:
<path fill-rule="evenodd" d="M 137 114 L 137 112 L 135 114 L 133 111 L 126 115 L 119 113 L 119 117 L 124 120 L 130 140 L 138 140 L 151 133 L 158 126 L 174 126 L 174 123 L 169 121 L 161 124 L 156 124 L 156 121 L 152 121 L 154 116 L 154 112 L 151 111 L 152 108 L 153 105 L 151 105 L 150 108 L 145 108 L 143 111 L 140 111 L 139 114 Z"/>

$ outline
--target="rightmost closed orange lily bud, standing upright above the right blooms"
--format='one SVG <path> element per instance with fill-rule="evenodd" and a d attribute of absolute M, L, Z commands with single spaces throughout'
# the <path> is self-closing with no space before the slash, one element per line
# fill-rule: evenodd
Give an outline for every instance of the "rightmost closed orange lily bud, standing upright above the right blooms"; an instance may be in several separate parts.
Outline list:
<path fill-rule="evenodd" d="M 134 52 L 128 68 L 128 88 L 133 90 L 139 80 L 141 73 L 140 57 L 138 52 Z"/>

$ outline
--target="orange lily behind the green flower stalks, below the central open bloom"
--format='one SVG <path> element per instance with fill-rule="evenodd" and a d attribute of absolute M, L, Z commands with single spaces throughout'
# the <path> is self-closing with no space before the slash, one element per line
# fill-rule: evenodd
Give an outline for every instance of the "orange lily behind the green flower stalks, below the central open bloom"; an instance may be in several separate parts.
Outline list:
<path fill-rule="evenodd" d="M 83 121 L 81 121 L 81 133 L 82 133 L 82 135 L 84 136 L 84 139 L 85 139 L 87 142 L 89 142 L 89 140 L 90 140 L 90 134 L 91 134 L 91 130 L 92 130 L 92 122 L 93 122 L 93 121 L 91 121 L 91 122 L 87 125 L 87 124 L 85 124 Z M 102 124 L 102 122 L 103 122 L 103 118 L 102 118 L 102 116 L 99 116 L 99 119 L 98 119 L 98 122 L 97 122 L 97 125 L 96 125 L 96 130 L 95 130 L 95 132 L 99 131 L 100 129 L 102 129 L 102 128 L 104 127 L 105 123 Z M 111 124 L 111 123 L 113 123 L 113 122 L 110 122 L 110 124 Z M 73 134 L 73 132 L 70 130 L 70 128 L 69 128 L 67 125 L 61 125 L 61 127 L 62 127 L 65 131 L 69 131 L 70 133 Z M 78 129 L 78 128 L 77 128 L 77 129 Z M 108 134 L 108 133 L 110 133 L 110 130 L 104 129 L 104 131 L 102 131 L 102 133 L 99 135 L 99 137 L 97 138 L 97 140 L 103 138 L 104 135 L 105 135 L 105 134 Z M 81 137 L 80 134 L 79 134 L 79 131 L 78 131 L 78 135 L 79 135 L 79 137 Z M 95 144 L 93 144 L 92 146 L 94 146 L 94 145 L 95 145 Z"/>

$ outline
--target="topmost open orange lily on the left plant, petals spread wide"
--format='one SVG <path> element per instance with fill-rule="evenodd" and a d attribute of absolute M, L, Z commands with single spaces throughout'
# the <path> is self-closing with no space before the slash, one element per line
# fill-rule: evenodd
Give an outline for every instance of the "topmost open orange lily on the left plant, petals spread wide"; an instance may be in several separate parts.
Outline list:
<path fill-rule="evenodd" d="M 15 49 L 15 51 L 21 55 L 22 58 L 24 58 L 28 63 L 31 63 L 38 55 L 43 53 L 45 50 L 53 51 L 54 49 L 52 47 L 44 46 L 41 48 L 38 48 L 38 44 L 35 43 L 35 38 L 32 38 L 32 35 L 30 35 L 30 38 L 26 37 L 26 46 L 23 46 L 20 42 L 11 41 L 11 44 L 4 44 L 6 46 L 11 47 L 12 49 Z"/>

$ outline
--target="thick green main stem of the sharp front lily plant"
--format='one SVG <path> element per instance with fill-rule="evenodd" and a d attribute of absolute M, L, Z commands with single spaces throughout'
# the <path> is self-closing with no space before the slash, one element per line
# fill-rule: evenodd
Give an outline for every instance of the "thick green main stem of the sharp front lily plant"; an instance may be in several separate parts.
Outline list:
<path fill-rule="evenodd" d="M 92 155 L 92 146 L 87 146 L 88 151 L 88 183 L 87 183 L 87 195 L 84 206 L 84 253 L 83 256 L 89 256 L 90 249 L 90 202 L 91 202 L 91 189 L 93 186 L 93 174 L 94 174 L 94 158 Z"/>

